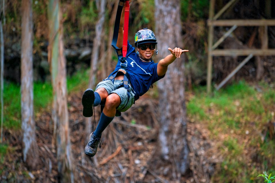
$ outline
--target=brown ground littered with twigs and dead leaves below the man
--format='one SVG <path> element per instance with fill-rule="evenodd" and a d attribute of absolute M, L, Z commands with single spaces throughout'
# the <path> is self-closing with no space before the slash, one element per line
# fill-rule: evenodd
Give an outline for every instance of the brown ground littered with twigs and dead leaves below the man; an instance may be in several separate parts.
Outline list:
<path fill-rule="evenodd" d="M 103 145 L 96 156 L 86 156 L 84 147 L 89 134 L 85 132 L 81 96 L 82 92 L 78 92 L 68 99 L 75 182 L 210 182 L 221 157 L 215 156 L 209 132 L 201 124 L 188 122 L 190 170 L 179 179 L 171 162 L 165 161 L 159 151 L 158 101 L 146 95 L 121 117 L 114 118 L 102 134 Z M 99 118 L 100 107 L 96 107 L 96 124 Z M 92 117 L 93 130 L 95 122 Z M 21 134 L 9 130 L 5 140 L 12 150 L 1 165 L 1 182 L 58 182 L 50 107 L 36 115 L 36 125 L 40 156 L 37 170 L 28 171 L 22 160 Z"/>

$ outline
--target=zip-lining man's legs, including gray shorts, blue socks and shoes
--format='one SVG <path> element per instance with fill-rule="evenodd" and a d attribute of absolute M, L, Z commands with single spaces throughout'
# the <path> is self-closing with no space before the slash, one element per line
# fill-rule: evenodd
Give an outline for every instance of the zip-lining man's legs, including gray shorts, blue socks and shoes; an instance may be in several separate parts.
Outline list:
<path fill-rule="evenodd" d="M 100 120 L 94 132 L 89 136 L 89 143 L 85 146 L 85 154 L 94 156 L 97 152 L 97 146 L 101 147 L 101 134 L 110 124 L 116 115 L 116 110 L 124 112 L 134 103 L 134 93 L 128 92 L 124 87 L 122 80 L 110 80 L 98 83 L 96 91 L 87 89 L 82 96 L 83 115 L 91 117 L 93 115 L 93 106 L 105 103 Z"/>

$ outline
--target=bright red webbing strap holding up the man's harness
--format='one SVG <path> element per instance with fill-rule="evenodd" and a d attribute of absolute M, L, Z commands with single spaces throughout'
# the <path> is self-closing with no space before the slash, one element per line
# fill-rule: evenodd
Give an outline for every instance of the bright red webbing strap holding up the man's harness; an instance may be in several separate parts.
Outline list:
<path fill-rule="evenodd" d="M 130 13 L 129 0 L 126 0 L 125 1 L 125 13 L 124 13 L 124 34 L 123 34 L 123 44 L 122 44 L 122 56 L 123 57 L 126 57 L 126 54 L 127 54 L 129 13 Z"/>

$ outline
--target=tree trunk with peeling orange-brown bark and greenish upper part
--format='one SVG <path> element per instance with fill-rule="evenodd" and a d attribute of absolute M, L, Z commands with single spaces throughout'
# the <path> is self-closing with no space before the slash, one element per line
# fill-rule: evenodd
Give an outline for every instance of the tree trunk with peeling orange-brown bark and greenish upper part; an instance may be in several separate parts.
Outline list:
<path fill-rule="evenodd" d="M 52 118 L 56 125 L 56 148 L 60 182 L 73 182 L 69 114 L 67 106 L 66 59 L 63 54 L 63 25 L 58 0 L 48 4 L 49 47 L 48 61 L 52 76 Z"/>

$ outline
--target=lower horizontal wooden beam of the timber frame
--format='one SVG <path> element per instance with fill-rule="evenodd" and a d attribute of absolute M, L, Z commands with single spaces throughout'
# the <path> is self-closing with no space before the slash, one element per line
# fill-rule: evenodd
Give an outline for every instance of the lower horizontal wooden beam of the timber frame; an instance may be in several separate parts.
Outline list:
<path fill-rule="evenodd" d="M 246 56 L 249 54 L 257 56 L 275 55 L 275 49 L 216 49 L 212 56 Z"/>

